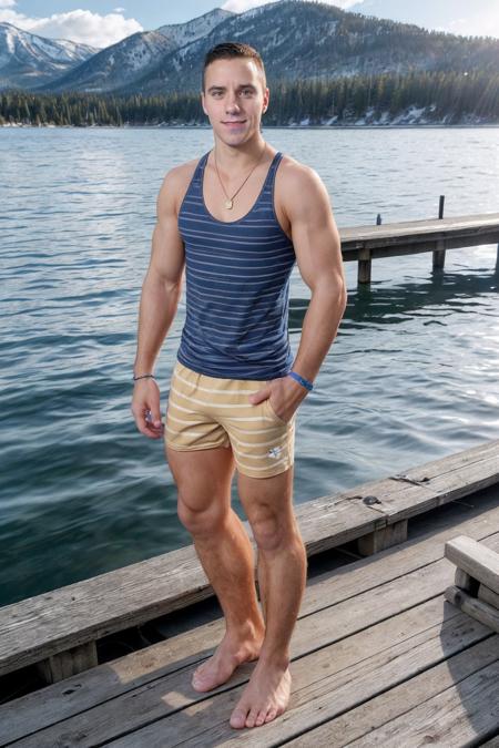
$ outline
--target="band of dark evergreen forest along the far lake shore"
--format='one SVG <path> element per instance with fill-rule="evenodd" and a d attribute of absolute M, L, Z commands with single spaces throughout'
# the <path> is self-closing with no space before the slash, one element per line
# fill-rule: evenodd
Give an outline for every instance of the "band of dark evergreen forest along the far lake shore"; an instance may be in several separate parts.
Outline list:
<path fill-rule="evenodd" d="M 426 122 L 499 124 L 499 72 L 427 72 L 269 81 L 263 125 L 389 123 L 410 107 Z M 163 95 L 0 91 L 0 125 L 201 125 L 200 94 Z"/>

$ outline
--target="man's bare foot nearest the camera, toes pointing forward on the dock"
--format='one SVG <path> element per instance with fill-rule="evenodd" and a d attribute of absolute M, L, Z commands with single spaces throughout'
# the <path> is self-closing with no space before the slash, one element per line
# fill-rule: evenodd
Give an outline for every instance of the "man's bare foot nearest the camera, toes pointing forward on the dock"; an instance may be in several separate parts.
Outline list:
<path fill-rule="evenodd" d="M 258 727 L 282 715 L 289 701 L 291 683 L 287 665 L 259 660 L 231 715 L 231 727 Z"/>

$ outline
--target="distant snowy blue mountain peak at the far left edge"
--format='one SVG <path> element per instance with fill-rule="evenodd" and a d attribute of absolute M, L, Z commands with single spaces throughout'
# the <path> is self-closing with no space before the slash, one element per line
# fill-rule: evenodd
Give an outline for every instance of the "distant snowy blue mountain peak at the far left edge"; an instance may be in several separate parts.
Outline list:
<path fill-rule="evenodd" d="M 64 39 L 45 39 L 0 23 L 0 88 L 32 88 L 50 81 L 99 50 Z"/>

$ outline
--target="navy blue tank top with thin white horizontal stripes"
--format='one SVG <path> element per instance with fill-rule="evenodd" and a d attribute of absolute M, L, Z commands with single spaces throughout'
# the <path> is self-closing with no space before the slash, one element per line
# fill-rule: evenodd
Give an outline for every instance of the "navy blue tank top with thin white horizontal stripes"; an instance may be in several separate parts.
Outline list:
<path fill-rule="evenodd" d="M 225 223 L 208 213 L 200 160 L 179 211 L 185 246 L 186 316 L 176 357 L 210 377 L 266 380 L 292 368 L 293 242 L 274 209 L 276 153 L 249 213 Z"/>

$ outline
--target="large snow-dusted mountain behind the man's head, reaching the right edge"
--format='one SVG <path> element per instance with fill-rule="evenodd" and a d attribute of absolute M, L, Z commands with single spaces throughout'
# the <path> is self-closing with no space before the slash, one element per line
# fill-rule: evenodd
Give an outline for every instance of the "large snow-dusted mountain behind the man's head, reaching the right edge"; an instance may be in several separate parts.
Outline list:
<path fill-rule="evenodd" d="M 244 41 L 265 62 L 267 81 L 379 75 L 411 71 L 496 70 L 499 41 L 464 40 L 415 24 L 344 11 L 324 2 L 278 0 L 234 13 L 204 37 L 167 53 L 120 93 L 198 91 L 214 44 Z"/>

